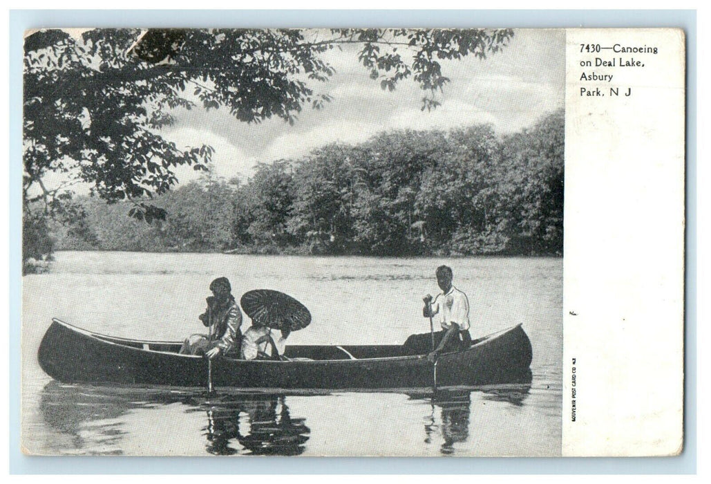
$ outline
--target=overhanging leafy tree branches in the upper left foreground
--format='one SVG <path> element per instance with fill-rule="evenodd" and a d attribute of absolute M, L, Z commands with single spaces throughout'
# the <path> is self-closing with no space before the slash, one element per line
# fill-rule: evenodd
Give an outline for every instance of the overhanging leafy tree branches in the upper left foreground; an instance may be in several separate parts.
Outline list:
<path fill-rule="evenodd" d="M 240 121 L 293 123 L 304 106 L 331 100 L 314 90 L 333 75 L 321 55 L 353 43 L 383 89 L 412 78 L 429 93 L 422 109 L 432 109 L 449 82 L 441 61 L 486 58 L 511 36 L 508 29 L 96 29 L 79 38 L 38 31 L 26 38 L 23 59 L 23 196 L 51 216 L 71 184 L 83 182 L 109 202 L 131 201 L 138 219 L 163 219 L 146 199 L 176 184 L 179 165 L 206 169 L 213 152 L 161 137 L 173 108 L 225 107 Z M 66 184 L 46 186 L 56 172 Z"/>

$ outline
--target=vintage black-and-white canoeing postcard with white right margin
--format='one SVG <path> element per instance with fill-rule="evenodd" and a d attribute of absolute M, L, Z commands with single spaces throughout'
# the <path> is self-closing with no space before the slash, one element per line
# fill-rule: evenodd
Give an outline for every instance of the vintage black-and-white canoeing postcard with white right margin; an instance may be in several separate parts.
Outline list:
<path fill-rule="evenodd" d="M 685 33 L 27 31 L 32 456 L 674 456 Z"/>

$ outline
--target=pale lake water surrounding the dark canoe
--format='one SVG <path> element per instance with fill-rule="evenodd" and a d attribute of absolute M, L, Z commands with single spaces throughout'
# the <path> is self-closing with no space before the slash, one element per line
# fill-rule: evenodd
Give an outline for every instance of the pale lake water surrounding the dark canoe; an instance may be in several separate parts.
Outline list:
<path fill-rule="evenodd" d="M 471 335 L 523 322 L 533 382 L 432 394 L 245 394 L 66 385 L 37 349 L 52 317 L 104 334 L 181 340 L 202 330 L 219 276 L 239 300 L 269 288 L 313 322 L 289 344 L 395 344 L 429 331 L 422 296 L 447 263 L 469 297 Z M 248 325 L 246 318 L 245 325 Z M 60 252 L 23 277 L 21 441 L 63 455 L 557 456 L 561 445 L 561 258 L 317 258 Z"/>

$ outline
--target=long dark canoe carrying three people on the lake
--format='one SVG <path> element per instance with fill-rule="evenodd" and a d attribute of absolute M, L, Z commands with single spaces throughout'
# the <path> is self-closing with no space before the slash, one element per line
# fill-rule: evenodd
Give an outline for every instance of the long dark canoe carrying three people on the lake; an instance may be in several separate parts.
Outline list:
<path fill-rule="evenodd" d="M 246 390 L 412 389 L 529 383 L 532 357 L 521 325 L 427 360 L 429 333 L 405 344 L 293 345 L 291 361 L 213 360 L 215 388 Z M 127 340 L 53 319 L 38 350 L 46 374 L 63 383 L 206 386 L 205 358 L 178 354 L 181 342 Z"/>

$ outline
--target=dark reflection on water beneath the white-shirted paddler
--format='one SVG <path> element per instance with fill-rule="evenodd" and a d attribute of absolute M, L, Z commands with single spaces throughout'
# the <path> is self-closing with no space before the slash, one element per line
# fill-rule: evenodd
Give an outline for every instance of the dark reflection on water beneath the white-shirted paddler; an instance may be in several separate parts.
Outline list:
<path fill-rule="evenodd" d="M 530 391 L 530 384 L 497 386 L 475 391 L 483 394 L 485 401 L 503 401 L 513 406 L 523 406 L 523 401 Z M 432 443 L 439 430 L 442 436 L 442 446 L 439 451 L 444 455 L 451 455 L 455 452 L 454 444 L 469 439 L 471 394 L 471 389 L 437 390 L 429 396 L 410 394 L 412 399 L 429 399 L 431 404 L 432 411 L 424 419 L 425 443 Z M 439 421 L 436 417 L 437 409 L 439 409 Z"/>

